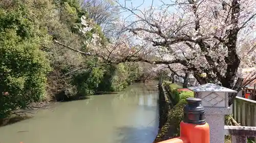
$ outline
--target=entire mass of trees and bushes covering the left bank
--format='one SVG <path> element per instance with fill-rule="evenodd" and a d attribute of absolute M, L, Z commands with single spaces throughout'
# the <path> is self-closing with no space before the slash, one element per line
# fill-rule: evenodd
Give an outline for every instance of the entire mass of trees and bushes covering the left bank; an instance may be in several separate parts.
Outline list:
<path fill-rule="evenodd" d="M 134 63 L 109 65 L 54 42 L 87 50 L 94 33 L 108 42 L 99 25 L 79 32 L 83 15 L 77 0 L 0 1 L 0 118 L 56 95 L 120 91 L 137 78 Z"/>

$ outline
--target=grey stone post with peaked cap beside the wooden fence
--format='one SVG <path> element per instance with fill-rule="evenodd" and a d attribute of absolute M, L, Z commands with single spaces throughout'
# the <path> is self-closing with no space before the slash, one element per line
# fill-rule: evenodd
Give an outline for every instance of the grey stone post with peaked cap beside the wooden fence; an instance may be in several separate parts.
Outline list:
<path fill-rule="evenodd" d="M 225 115 L 232 113 L 231 108 L 228 107 L 228 93 L 236 93 L 237 91 L 212 83 L 188 89 L 194 91 L 196 98 L 202 99 L 205 119 L 210 126 L 210 143 L 224 143 Z"/>

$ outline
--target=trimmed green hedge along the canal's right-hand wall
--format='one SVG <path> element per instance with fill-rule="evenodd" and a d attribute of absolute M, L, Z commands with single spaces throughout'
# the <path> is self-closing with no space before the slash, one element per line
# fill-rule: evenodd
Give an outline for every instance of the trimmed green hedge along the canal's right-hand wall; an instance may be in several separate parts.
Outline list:
<path fill-rule="evenodd" d="M 183 107 L 187 104 L 186 99 L 188 97 L 194 97 L 194 92 L 189 91 L 188 89 L 183 89 L 179 85 L 164 81 L 164 87 L 166 89 L 168 95 L 172 95 L 174 97 L 175 103 L 174 107 L 170 109 L 168 112 L 168 122 L 173 128 L 173 132 L 170 133 L 171 137 L 177 137 L 180 134 L 180 122 L 183 120 Z"/>

